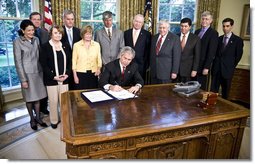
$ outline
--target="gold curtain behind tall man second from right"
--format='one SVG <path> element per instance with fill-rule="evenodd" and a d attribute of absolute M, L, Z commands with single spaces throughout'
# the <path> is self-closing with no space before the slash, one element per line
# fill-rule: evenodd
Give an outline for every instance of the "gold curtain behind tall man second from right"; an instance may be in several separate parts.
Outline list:
<path fill-rule="evenodd" d="M 201 14 L 204 11 L 210 11 L 213 15 L 212 28 L 216 29 L 218 27 L 219 20 L 219 10 L 220 10 L 221 0 L 198 0 L 197 6 L 197 29 L 201 27 Z"/>

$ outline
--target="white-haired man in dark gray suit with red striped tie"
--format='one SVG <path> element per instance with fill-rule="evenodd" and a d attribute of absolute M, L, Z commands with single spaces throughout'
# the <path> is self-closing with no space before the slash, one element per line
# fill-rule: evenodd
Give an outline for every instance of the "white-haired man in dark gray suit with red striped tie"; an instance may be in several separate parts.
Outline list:
<path fill-rule="evenodd" d="M 152 37 L 150 71 L 151 83 L 170 83 L 176 79 L 181 59 L 181 44 L 169 30 L 169 21 L 159 21 L 159 33 Z"/>

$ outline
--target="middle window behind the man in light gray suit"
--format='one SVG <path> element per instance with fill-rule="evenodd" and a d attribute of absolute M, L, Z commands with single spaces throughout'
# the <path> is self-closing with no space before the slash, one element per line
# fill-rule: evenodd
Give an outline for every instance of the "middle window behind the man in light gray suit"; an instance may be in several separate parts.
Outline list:
<path fill-rule="evenodd" d="M 104 11 L 113 13 L 113 26 L 117 25 L 117 0 L 81 0 L 81 24 L 92 25 L 94 31 L 104 27 L 102 14 Z"/>

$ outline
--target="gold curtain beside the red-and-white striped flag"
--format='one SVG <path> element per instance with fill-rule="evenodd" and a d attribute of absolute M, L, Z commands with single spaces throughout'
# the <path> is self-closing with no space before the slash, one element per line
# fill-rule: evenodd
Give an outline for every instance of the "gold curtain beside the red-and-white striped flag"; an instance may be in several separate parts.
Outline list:
<path fill-rule="evenodd" d="M 41 2 L 40 11 L 43 14 L 44 1 Z M 63 11 L 66 9 L 72 10 L 75 14 L 75 26 L 81 26 L 81 11 L 80 11 L 80 0 L 51 0 L 52 8 L 52 19 L 53 24 L 63 24 Z"/>

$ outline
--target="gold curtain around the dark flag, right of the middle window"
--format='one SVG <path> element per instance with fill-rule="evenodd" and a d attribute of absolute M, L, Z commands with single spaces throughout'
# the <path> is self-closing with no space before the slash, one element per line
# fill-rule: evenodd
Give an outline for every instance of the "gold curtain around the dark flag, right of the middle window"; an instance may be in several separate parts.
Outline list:
<path fill-rule="evenodd" d="M 136 14 L 144 14 L 146 0 L 120 0 L 120 29 L 125 31 L 132 27 L 133 17 Z M 158 0 L 152 0 L 152 33 L 157 26 Z"/>

